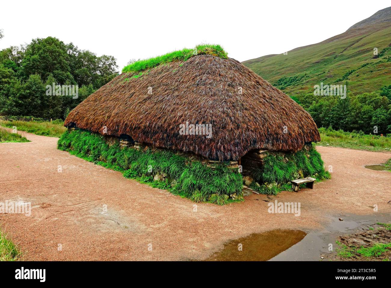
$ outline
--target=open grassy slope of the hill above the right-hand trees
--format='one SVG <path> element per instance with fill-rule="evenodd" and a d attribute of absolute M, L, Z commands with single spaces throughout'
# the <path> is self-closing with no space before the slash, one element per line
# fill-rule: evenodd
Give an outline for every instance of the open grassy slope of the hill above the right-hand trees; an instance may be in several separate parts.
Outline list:
<path fill-rule="evenodd" d="M 323 42 L 288 51 L 287 55 L 262 56 L 243 64 L 289 96 L 313 92 L 320 82 L 348 81 L 353 93 L 379 91 L 391 84 L 391 7 L 362 22 Z M 375 47 L 377 56 L 373 54 Z"/>

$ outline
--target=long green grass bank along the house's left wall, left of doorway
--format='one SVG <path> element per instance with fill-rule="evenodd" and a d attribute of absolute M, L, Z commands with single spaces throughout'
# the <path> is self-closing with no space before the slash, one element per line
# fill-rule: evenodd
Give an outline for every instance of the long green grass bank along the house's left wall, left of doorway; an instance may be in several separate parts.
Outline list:
<path fill-rule="evenodd" d="M 227 165 L 212 169 L 167 150 L 121 149 L 118 143 L 109 146 L 103 136 L 83 130 L 66 131 L 58 149 L 194 202 L 223 205 L 234 201 L 229 198 L 231 194 L 242 195 L 242 175 Z M 156 174 L 163 175 L 164 180 L 154 181 Z"/>

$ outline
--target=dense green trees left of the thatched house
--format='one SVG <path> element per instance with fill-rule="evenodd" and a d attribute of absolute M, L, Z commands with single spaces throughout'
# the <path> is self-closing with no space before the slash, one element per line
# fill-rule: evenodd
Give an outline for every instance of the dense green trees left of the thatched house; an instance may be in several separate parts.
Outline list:
<path fill-rule="evenodd" d="M 0 31 L 0 39 L 3 34 Z M 97 56 L 54 37 L 0 51 L 0 115 L 64 118 L 87 96 L 118 75 L 113 56 Z M 78 85 L 78 97 L 46 86 Z M 54 95 L 53 95 L 54 94 Z"/>

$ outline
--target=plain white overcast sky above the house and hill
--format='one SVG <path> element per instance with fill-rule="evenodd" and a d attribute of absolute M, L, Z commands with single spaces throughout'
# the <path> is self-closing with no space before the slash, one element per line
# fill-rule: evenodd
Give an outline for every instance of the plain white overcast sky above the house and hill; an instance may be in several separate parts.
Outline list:
<path fill-rule="evenodd" d="M 296 3 L 294 3 L 296 2 Z M 217 43 L 239 61 L 321 42 L 390 6 L 389 0 L 2 1 L 0 49 L 54 36 L 119 70 L 136 60 Z"/>

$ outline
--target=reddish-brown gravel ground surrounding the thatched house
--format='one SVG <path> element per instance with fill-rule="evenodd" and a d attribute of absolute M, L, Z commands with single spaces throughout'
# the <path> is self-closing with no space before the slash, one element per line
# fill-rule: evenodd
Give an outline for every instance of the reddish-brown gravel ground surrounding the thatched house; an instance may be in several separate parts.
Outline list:
<path fill-rule="evenodd" d="M 390 153 L 317 147 L 333 173 L 313 190 L 198 203 L 195 212 L 188 199 L 57 150 L 57 138 L 23 134 L 32 142 L 0 144 L 0 202 L 31 202 L 31 216 L 0 214 L 0 225 L 25 260 L 203 259 L 254 232 L 321 230 L 330 215 L 391 213 L 391 173 L 364 168 Z M 268 213 L 275 199 L 300 202 L 301 215 Z"/>

